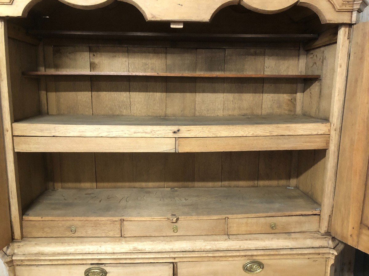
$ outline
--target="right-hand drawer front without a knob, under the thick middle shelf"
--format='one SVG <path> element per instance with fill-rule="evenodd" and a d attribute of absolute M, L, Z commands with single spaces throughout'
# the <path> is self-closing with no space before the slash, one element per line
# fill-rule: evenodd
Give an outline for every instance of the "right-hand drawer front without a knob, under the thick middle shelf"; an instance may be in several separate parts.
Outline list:
<path fill-rule="evenodd" d="M 178 138 L 178 152 L 327 149 L 329 135 Z"/>

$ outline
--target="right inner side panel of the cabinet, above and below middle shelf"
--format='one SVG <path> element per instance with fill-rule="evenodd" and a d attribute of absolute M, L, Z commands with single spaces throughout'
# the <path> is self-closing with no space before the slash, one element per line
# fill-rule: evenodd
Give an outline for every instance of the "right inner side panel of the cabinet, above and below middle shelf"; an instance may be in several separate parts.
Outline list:
<path fill-rule="evenodd" d="M 337 43 L 307 51 L 305 74 L 321 80 L 305 81 L 302 114 L 329 120 L 332 102 Z M 326 150 L 300 151 L 297 187 L 321 204 L 323 200 Z"/>

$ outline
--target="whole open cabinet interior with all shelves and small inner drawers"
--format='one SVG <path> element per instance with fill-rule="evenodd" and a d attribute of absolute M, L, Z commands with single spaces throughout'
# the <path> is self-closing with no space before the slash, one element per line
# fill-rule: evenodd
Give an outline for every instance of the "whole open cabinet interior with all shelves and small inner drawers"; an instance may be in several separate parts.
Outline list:
<path fill-rule="evenodd" d="M 41 1 L 8 29 L 24 237 L 319 230 L 337 25 Z"/>

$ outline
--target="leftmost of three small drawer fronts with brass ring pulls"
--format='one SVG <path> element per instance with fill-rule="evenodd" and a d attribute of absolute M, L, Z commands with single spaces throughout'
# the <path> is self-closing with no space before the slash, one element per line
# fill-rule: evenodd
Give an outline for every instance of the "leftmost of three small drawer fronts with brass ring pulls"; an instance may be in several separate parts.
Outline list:
<path fill-rule="evenodd" d="M 121 237 L 120 221 L 23 221 L 23 236 Z"/>

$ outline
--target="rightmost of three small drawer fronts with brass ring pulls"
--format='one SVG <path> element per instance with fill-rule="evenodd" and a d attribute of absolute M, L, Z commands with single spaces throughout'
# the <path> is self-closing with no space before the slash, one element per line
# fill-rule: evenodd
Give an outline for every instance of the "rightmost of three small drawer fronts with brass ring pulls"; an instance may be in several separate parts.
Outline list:
<path fill-rule="evenodd" d="M 246 217 L 228 219 L 228 234 L 263 234 L 319 231 L 318 215 Z"/>

